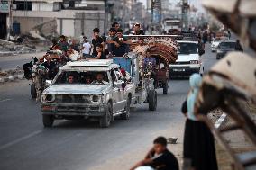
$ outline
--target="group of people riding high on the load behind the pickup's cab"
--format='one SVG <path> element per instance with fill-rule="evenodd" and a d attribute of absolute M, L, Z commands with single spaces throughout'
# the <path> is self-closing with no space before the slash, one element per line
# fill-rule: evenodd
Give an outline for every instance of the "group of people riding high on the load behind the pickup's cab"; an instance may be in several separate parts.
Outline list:
<path fill-rule="evenodd" d="M 140 23 L 133 26 L 133 35 L 143 35 Z M 65 35 L 51 40 L 50 50 L 40 58 L 41 65 L 48 69 L 50 78 L 54 77 L 60 66 L 65 65 L 68 61 L 80 59 L 109 59 L 113 57 L 123 57 L 130 51 L 132 40 L 123 36 L 123 30 L 118 22 L 114 22 L 108 30 L 108 35 L 102 35 L 99 28 L 92 30 L 92 39 L 89 40 L 84 33 L 81 33 L 79 40 L 68 39 Z M 151 45 L 145 44 L 143 39 L 138 40 L 137 46 L 133 52 L 140 55 L 140 62 L 148 62 L 146 51 Z M 146 59 L 145 59 L 146 58 Z"/>

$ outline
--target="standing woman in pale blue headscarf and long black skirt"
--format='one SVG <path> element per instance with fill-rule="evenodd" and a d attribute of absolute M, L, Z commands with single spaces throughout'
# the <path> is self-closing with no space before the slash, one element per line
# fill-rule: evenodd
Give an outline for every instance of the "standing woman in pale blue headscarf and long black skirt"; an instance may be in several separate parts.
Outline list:
<path fill-rule="evenodd" d="M 191 89 L 187 95 L 187 101 L 182 105 L 182 112 L 187 117 L 183 144 L 184 169 L 217 170 L 214 137 L 206 124 L 197 121 L 194 114 L 201 83 L 202 77 L 199 74 L 190 76 Z"/>

